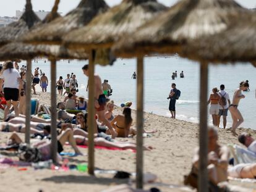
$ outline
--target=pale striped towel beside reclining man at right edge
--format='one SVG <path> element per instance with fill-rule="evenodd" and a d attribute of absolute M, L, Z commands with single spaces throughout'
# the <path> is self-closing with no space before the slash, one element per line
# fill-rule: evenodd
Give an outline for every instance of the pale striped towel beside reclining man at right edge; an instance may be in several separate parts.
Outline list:
<path fill-rule="evenodd" d="M 256 162 L 256 154 L 248 149 L 241 148 L 236 144 L 229 145 L 229 149 L 234 157 L 234 165 Z"/>

